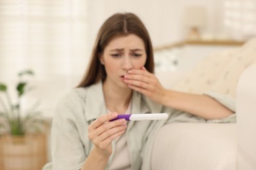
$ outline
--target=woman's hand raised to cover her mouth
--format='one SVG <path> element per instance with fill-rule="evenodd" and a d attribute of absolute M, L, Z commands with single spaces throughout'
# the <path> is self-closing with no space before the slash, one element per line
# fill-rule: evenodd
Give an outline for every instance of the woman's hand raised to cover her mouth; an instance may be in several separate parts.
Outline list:
<path fill-rule="evenodd" d="M 158 78 L 154 74 L 148 72 L 145 67 L 142 67 L 142 69 L 131 69 L 128 73 L 125 75 L 124 82 L 131 89 L 162 104 L 161 99 L 163 99 L 163 95 L 165 94 L 165 88 L 161 86 Z"/>

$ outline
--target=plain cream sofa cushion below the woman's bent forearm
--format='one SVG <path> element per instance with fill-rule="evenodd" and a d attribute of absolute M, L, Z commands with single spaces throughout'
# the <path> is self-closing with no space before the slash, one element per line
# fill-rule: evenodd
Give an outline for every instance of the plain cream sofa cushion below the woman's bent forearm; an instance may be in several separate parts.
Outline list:
<path fill-rule="evenodd" d="M 236 124 L 172 123 L 161 127 L 152 169 L 236 169 Z"/>

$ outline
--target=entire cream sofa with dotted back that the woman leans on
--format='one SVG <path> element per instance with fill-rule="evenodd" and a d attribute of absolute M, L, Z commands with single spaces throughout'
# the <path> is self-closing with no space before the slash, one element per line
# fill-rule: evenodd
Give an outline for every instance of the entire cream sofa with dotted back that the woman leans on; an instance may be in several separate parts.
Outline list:
<path fill-rule="evenodd" d="M 254 70 L 249 68 L 247 82 L 241 80 L 243 88 L 238 87 L 240 76 L 253 63 L 256 63 L 256 39 L 251 39 L 237 50 L 210 54 L 173 87 L 182 92 L 212 91 L 237 98 L 238 123 L 177 122 L 161 127 L 152 150 L 152 169 L 256 169 L 256 139 L 252 130 L 253 127 L 256 129 L 256 85 L 245 86 L 251 80 L 256 84 L 256 65 Z M 169 78 L 161 77 L 160 81 Z M 254 120 L 249 118 L 250 114 Z M 247 124 L 249 120 L 251 126 Z"/>

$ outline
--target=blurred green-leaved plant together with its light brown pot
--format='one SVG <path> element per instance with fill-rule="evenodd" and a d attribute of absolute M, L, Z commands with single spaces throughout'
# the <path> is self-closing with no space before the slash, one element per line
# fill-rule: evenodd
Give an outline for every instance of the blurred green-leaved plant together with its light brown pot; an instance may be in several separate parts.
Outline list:
<path fill-rule="evenodd" d="M 33 71 L 18 73 L 15 102 L 8 86 L 0 82 L 0 169 L 36 170 L 46 162 L 46 137 L 38 102 L 27 110 L 22 108 L 22 98 L 33 90 L 28 76 L 33 76 Z"/>

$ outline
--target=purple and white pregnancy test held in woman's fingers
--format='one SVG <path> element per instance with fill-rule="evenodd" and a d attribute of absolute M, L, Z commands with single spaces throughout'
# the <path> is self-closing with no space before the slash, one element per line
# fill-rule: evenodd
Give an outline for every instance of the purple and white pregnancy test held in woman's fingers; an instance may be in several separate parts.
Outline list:
<path fill-rule="evenodd" d="M 148 114 L 119 114 L 116 118 L 110 120 L 124 118 L 126 121 L 130 120 L 165 120 L 168 118 L 167 113 L 148 113 Z"/>

